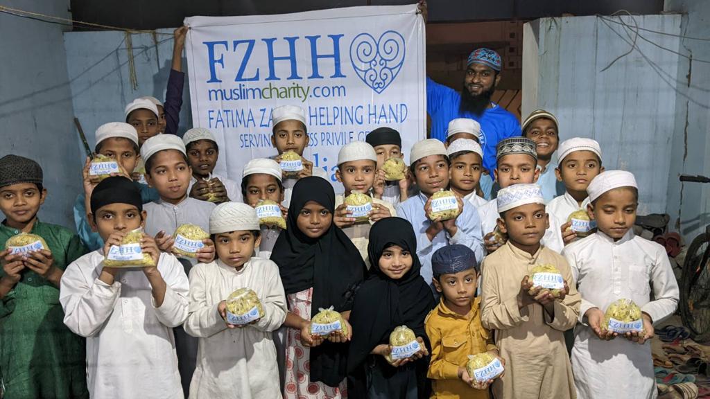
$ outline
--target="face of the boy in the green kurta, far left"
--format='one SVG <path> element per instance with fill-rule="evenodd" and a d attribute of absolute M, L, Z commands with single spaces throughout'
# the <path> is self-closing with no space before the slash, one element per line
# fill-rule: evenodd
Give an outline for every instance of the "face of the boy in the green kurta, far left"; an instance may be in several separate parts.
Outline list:
<path fill-rule="evenodd" d="M 17 183 L 0 187 L 0 210 L 8 226 L 21 227 L 31 222 L 44 204 L 47 190 L 40 191 L 35 183 Z"/>

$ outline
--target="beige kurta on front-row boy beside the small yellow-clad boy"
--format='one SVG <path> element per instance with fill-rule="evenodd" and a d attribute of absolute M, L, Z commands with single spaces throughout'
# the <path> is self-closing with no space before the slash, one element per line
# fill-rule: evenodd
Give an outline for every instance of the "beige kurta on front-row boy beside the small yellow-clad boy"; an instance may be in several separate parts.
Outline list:
<path fill-rule="evenodd" d="M 555 301 L 554 319 L 537 303 L 518 309 L 520 283 L 540 263 L 556 266 L 569 285 L 569 295 Z M 481 323 L 496 330 L 496 345 L 506 359 L 506 374 L 493 383 L 493 395 L 576 398 L 563 332 L 577 322 L 581 297 L 564 257 L 545 246 L 530 256 L 508 241 L 484 259 L 481 273 Z"/>

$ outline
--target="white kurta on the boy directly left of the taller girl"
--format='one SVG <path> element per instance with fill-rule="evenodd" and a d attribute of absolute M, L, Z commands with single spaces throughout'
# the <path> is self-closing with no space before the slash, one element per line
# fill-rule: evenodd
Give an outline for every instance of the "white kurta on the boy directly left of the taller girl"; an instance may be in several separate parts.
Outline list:
<path fill-rule="evenodd" d="M 239 288 L 250 288 L 264 317 L 255 324 L 227 329 L 219 302 Z M 190 398 L 280 398 L 272 332 L 286 318 L 286 297 L 272 261 L 251 258 L 239 271 L 222 261 L 190 270 L 190 315 L 185 331 L 200 338 Z"/>

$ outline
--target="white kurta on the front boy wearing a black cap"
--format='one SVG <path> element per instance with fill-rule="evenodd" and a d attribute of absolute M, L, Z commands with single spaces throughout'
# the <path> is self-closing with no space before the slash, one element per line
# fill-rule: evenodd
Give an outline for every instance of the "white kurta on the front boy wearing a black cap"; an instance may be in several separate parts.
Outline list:
<path fill-rule="evenodd" d="M 187 318 L 187 276 L 175 256 L 161 253 L 165 299 L 155 307 L 141 268 L 99 280 L 102 250 L 71 263 L 60 288 L 64 323 L 87 339 L 87 385 L 92 398 L 183 398 L 173 327 Z"/>

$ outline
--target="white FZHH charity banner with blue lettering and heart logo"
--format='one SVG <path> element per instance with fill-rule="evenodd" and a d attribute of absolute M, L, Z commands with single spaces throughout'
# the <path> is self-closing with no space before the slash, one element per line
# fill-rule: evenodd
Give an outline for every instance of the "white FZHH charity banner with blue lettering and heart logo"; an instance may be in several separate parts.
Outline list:
<path fill-rule="evenodd" d="M 364 6 L 273 16 L 185 19 L 193 126 L 220 148 L 217 172 L 241 181 L 276 155 L 271 110 L 305 110 L 303 156 L 335 180 L 339 149 L 378 127 L 403 151 L 425 137 L 425 31 L 417 6 Z"/>

